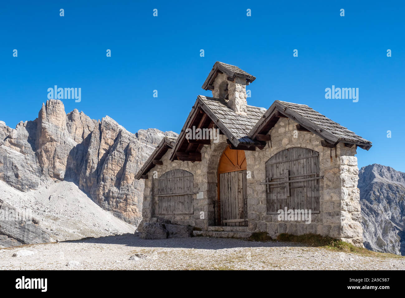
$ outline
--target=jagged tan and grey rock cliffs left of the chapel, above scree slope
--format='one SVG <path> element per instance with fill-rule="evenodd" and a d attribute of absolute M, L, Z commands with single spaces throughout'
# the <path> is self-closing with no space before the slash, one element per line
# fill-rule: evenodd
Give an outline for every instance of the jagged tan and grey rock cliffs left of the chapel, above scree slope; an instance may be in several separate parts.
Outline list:
<path fill-rule="evenodd" d="M 23 192 L 74 182 L 115 217 L 138 224 L 143 180 L 134 176 L 164 136 L 177 134 L 133 134 L 109 116 L 93 120 L 77 109 L 66 114 L 62 101 L 51 99 L 38 118 L 15 129 L 0 121 L 0 180 Z"/>

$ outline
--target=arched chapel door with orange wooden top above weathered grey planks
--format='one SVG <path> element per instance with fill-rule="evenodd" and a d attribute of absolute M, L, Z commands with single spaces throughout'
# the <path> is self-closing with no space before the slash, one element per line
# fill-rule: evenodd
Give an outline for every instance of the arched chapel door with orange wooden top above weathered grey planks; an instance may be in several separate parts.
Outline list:
<path fill-rule="evenodd" d="M 246 157 L 228 146 L 218 164 L 217 224 L 247 225 Z"/>

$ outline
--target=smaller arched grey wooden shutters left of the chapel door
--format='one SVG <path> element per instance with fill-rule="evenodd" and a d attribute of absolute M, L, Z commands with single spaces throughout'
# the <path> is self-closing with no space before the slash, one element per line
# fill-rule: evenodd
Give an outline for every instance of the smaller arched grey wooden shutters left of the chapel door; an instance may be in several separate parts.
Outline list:
<path fill-rule="evenodd" d="M 194 213 L 194 176 L 181 169 L 168 171 L 158 180 L 159 214 Z"/>

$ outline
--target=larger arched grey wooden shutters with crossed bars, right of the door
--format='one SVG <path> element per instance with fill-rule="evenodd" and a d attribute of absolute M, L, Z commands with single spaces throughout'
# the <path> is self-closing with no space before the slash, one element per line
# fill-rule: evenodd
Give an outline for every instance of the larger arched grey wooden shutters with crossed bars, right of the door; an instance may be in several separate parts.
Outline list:
<path fill-rule="evenodd" d="M 319 213 L 319 152 L 308 148 L 282 150 L 266 162 L 267 213 L 280 209 Z"/>

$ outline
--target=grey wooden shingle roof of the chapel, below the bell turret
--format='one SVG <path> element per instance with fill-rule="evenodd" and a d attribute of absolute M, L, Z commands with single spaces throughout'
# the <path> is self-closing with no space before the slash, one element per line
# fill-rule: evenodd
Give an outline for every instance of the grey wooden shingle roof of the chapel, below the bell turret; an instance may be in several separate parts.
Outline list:
<path fill-rule="evenodd" d="M 136 174 L 135 178 L 147 178 L 146 174 L 169 149 L 173 149 L 170 160 L 201 161 L 201 149 L 211 144 L 210 140 L 195 141 L 185 139 L 186 129 L 192 126 L 199 128 L 217 127 L 227 137 L 233 148 L 242 150 L 262 149 L 265 146 L 267 133 L 274 127 L 280 117 L 290 118 L 297 124 L 297 130 L 310 131 L 320 136 L 322 146 L 334 147 L 343 142 L 347 146 L 359 146 L 369 150 L 371 141 L 356 135 L 353 131 L 341 126 L 318 111 L 297 103 L 275 101 L 269 109 L 247 106 L 247 115 L 239 115 L 226 105 L 224 99 L 198 95 L 192 110 L 177 139 L 164 137 L 149 159 Z"/>

